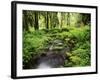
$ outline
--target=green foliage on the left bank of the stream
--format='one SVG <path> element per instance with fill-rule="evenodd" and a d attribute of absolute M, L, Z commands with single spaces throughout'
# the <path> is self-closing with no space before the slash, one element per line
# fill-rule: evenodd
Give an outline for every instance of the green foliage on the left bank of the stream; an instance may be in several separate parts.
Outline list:
<path fill-rule="evenodd" d="M 44 47 L 44 42 L 47 40 L 43 31 L 35 31 L 32 33 L 23 33 L 23 59 L 27 63 L 32 55 L 40 55 L 41 49 Z"/>

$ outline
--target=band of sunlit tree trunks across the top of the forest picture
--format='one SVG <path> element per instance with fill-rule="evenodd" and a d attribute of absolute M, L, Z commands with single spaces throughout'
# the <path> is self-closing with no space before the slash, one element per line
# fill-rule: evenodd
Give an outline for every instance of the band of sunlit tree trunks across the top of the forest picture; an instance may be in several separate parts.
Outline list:
<path fill-rule="evenodd" d="M 29 31 L 30 27 L 34 30 L 81 27 L 90 24 L 90 18 L 91 15 L 86 13 L 23 10 L 23 29 Z"/>

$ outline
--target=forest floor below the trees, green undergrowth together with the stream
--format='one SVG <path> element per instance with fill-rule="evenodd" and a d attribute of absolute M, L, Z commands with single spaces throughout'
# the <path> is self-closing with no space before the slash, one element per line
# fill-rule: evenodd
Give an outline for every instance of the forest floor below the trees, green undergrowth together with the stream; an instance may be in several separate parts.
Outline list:
<path fill-rule="evenodd" d="M 90 27 L 41 29 L 23 33 L 23 68 L 38 68 L 45 62 L 50 67 L 91 65 Z"/>

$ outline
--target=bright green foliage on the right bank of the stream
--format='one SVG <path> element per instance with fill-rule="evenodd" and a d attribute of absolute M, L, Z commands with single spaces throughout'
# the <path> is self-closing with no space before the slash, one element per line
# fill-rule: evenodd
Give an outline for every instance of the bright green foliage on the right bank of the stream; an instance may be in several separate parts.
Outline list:
<path fill-rule="evenodd" d="M 73 28 L 69 32 L 69 40 L 73 40 L 72 50 L 70 52 L 69 61 L 65 66 L 89 66 L 90 54 L 90 27 Z M 69 43 L 68 43 L 69 44 Z"/>

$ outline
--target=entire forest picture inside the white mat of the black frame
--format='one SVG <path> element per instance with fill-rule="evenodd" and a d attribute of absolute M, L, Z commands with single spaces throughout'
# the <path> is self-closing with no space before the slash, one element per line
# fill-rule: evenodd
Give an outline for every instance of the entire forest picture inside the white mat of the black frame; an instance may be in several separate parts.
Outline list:
<path fill-rule="evenodd" d="M 23 69 L 91 65 L 90 14 L 23 10 L 22 20 Z"/>

